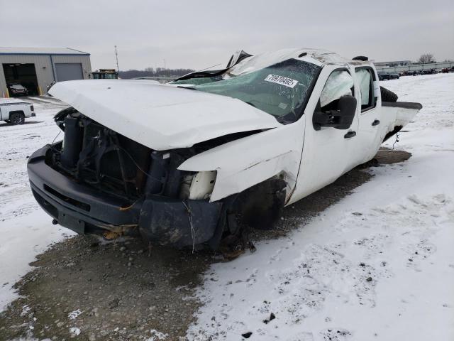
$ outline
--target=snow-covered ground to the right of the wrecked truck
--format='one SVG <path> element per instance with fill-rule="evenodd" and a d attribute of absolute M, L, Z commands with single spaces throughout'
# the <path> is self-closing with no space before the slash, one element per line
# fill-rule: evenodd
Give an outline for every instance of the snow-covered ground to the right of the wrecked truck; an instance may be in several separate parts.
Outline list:
<path fill-rule="evenodd" d="M 454 340 L 454 74 L 382 85 L 423 104 L 396 145 L 413 156 L 288 237 L 214 264 L 189 340 Z"/>

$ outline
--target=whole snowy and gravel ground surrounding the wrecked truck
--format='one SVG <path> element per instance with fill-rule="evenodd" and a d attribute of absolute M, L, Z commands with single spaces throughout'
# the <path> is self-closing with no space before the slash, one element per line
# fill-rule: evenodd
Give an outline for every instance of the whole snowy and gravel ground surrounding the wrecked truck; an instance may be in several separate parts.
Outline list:
<path fill-rule="evenodd" d="M 423 104 L 394 146 L 411 158 L 287 207 L 281 237 L 228 262 L 52 225 L 26 158 L 59 134 L 65 104 L 31 99 L 34 121 L 0 124 L 0 339 L 453 340 L 454 74 L 383 83 Z"/>

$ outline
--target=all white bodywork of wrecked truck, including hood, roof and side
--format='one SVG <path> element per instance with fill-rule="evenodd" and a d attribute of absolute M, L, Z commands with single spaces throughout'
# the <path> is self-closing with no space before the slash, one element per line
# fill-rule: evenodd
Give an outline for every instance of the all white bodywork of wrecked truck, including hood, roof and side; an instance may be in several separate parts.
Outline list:
<path fill-rule="evenodd" d="M 230 70 L 231 75 L 243 75 L 286 58 L 322 66 L 304 114 L 293 123 L 280 124 L 272 115 L 238 99 L 147 81 L 59 82 L 50 93 L 109 129 L 159 151 L 190 147 L 227 134 L 262 130 L 199 153 L 178 169 L 216 171 L 211 201 L 279 176 L 287 183 L 286 205 L 369 161 L 384 136 L 407 124 L 419 111 L 383 107 L 380 89 L 374 82 L 375 107 L 361 112 L 359 104 L 349 129 L 322 126 L 315 130 L 312 117 L 331 72 L 343 69 L 350 73 L 354 96 L 361 103 L 355 67 L 372 68 L 378 79 L 373 64 L 311 49 L 287 49 L 265 57 L 252 64 L 250 61 L 255 57 L 245 58 Z M 375 121 L 380 124 L 373 124 Z M 354 137 L 347 138 L 348 132 Z"/>

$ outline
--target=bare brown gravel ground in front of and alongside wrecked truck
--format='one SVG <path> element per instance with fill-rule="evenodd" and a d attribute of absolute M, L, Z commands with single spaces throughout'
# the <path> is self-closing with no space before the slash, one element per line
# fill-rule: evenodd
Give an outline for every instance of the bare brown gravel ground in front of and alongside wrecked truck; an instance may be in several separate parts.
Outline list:
<path fill-rule="evenodd" d="M 277 229 L 250 237 L 270 239 L 301 227 L 370 180 L 368 167 L 410 156 L 380 149 L 375 161 L 286 207 Z M 0 314 L 1 340 L 186 340 L 200 304 L 194 291 L 220 260 L 208 251 L 150 249 L 140 240 L 99 244 L 86 236 L 55 244 L 37 258 L 37 268 L 16 283 L 21 298 Z"/>

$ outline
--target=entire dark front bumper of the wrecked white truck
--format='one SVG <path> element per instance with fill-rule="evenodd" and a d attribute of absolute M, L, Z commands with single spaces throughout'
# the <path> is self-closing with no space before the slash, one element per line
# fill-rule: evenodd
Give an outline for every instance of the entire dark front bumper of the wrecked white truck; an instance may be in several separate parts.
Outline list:
<path fill-rule="evenodd" d="M 221 202 L 150 195 L 131 205 L 55 171 L 45 163 L 49 148 L 40 148 L 28 159 L 28 177 L 36 201 L 63 227 L 80 234 L 140 233 L 151 242 L 175 247 L 214 237 Z"/>

